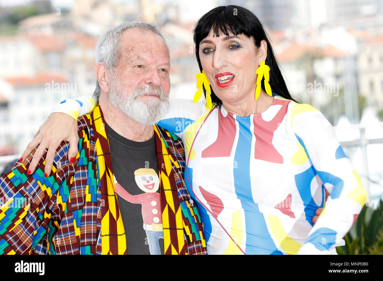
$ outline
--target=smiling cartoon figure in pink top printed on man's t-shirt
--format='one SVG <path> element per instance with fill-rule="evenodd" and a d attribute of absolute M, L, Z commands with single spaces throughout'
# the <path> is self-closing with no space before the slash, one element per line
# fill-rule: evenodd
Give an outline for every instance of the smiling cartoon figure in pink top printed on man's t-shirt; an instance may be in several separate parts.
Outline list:
<path fill-rule="evenodd" d="M 161 250 L 158 239 L 164 238 L 160 193 L 157 192 L 160 180 L 154 169 L 148 168 L 141 168 L 134 171 L 134 179 L 136 180 L 137 186 L 144 193 L 131 195 L 115 178 L 116 192 L 126 201 L 142 205 L 143 227 L 146 232 L 147 242 L 149 243 L 149 251 L 151 255 L 160 255 Z"/>

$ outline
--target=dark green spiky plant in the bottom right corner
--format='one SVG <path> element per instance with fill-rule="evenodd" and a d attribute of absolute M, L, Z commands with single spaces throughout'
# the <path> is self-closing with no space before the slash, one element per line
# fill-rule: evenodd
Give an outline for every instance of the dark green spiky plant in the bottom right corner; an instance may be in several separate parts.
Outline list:
<path fill-rule="evenodd" d="M 346 245 L 336 247 L 339 255 L 383 254 L 383 201 L 374 210 L 363 206 L 357 221 L 344 237 Z"/>

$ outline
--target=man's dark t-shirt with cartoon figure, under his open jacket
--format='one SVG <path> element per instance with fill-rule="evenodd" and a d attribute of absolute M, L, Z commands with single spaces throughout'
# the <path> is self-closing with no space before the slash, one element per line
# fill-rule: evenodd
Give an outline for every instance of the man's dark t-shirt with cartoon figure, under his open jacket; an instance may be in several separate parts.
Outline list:
<path fill-rule="evenodd" d="M 132 141 L 106 124 L 126 253 L 164 254 L 158 166 L 154 135 Z"/>

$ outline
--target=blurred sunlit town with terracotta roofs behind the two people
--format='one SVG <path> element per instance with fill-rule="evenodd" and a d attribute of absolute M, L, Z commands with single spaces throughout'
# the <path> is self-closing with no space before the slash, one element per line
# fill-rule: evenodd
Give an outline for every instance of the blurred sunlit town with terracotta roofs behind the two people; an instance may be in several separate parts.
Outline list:
<path fill-rule="evenodd" d="M 170 97 L 192 99 L 199 72 L 195 22 L 216 6 L 233 4 L 253 11 L 265 25 L 292 96 L 321 110 L 369 198 L 382 197 L 382 0 L 61 3 L 0 0 L 0 171 L 20 156 L 54 105 L 93 93 L 95 44 L 123 21 L 159 25 L 171 53 Z"/>

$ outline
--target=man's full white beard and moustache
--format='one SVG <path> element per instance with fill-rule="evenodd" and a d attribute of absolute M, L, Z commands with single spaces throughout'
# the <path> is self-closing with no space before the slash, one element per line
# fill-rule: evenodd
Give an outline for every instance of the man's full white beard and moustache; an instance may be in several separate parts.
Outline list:
<path fill-rule="evenodd" d="M 113 77 L 109 87 L 109 102 L 121 110 L 126 116 L 143 125 L 154 125 L 169 111 L 169 97 L 164 89 L 159 86 L 146 85 L 138 87 L 130 95 L 123 92 L 121 86 Z M 156 94 L 143 102 L 137 99 L 139 96 Z"/>

